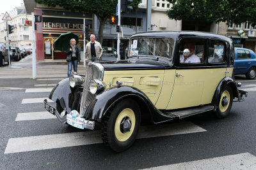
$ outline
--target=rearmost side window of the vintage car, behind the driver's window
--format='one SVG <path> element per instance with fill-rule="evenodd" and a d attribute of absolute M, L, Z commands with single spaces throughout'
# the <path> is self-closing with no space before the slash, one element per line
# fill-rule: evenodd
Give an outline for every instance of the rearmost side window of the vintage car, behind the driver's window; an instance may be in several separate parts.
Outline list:
<path fill-rule="evenodd" d="M 225 62 L 225 49 L 225 43 L 221 41 L 211 40 L 208 48 L 208 63 L 217 64 Z"/>

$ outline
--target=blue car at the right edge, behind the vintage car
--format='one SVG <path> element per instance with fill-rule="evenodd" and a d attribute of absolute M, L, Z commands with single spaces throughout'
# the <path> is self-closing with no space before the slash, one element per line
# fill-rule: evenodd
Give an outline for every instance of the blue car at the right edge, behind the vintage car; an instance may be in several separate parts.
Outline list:
<path fill-rule="evenodd" d="M 235 48 L 235 74 L 245 74 L 246 78 L 256 77 L 256 55 L 247 48 Z"/>

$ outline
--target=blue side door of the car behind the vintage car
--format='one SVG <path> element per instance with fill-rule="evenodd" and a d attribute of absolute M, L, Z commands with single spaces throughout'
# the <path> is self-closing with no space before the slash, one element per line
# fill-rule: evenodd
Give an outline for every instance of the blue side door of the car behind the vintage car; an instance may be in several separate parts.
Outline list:
<path fill-rule="evenodd" d="M 251 65 L 250 51 L 244 48 L 235 48 L 235 74 L 246 74 Z"/>

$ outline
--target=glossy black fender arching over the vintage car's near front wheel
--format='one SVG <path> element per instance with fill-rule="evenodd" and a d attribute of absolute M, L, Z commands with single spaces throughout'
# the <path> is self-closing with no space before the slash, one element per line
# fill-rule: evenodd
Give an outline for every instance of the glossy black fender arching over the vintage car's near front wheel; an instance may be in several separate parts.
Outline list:
<path fill-rule="evenodd" d="M 126 98 L 136 100 L 140 106 L 141 113 L 149 114 L 152 122 L 155 124 L 172 120 L 172 118 L 157 110 L 154 104 L 152 104 L 150 99 L 148 99 L 143 92 L 130 86 L 112 87 L 98 94 L 95 97 L 95 100 L 88 106 L 84 118 L 100 122 L 101 118 L 111 112 L 111 109 L 115 104 Z"/>

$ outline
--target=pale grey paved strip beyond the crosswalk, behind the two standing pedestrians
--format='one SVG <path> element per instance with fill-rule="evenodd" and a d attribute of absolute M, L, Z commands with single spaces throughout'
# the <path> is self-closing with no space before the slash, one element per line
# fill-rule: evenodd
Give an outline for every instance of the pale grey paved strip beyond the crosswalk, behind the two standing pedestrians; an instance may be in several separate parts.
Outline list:
<path fill-rule="evenodd" d="M 65 59 L 36 62 L 36 78 L 65 78 L 67 71 Z M 83 61 L 77 66 L 77 73 L 85 74 Z M 32 55 L 17 62 L 12 61 L 11 67 L 0 67 L 1 78 L 33 78 Z"/>

